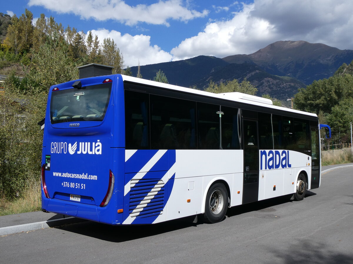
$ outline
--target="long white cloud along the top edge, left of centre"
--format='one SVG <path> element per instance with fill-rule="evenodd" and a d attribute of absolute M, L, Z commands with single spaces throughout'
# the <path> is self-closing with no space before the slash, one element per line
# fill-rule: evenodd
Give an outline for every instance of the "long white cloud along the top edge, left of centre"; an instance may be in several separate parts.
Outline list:
<path fill-rule="evenodd" d="M 58 13 L 73 13 L 83 19 L 117 20 L 126 25 L 144 22 L 169 26 L 169 19 L 188 21 L 208 14 L 207 10 L 189 10 L 181 0 L 160 0 L 155 4 L 136 6 L 130 6 L 123 0 L 30 0 L 28 5 L 43 6 Z"/>

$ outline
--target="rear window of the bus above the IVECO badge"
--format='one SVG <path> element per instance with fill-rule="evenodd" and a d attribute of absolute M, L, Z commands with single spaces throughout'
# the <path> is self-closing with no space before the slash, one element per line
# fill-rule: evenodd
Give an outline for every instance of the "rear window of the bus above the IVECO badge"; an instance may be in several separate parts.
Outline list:
<path fill-rule="evenodd" d="M 52 92 L 52 124 L 72 121 L 102 121 L 106 114 L 112 83 Z"/>

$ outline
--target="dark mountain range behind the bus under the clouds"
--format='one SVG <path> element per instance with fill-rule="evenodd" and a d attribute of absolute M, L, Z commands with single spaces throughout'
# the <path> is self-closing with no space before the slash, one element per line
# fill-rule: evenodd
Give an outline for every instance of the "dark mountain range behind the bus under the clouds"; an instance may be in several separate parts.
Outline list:
<path fill-rule="evenodd" d="M 215 83 L 246 78 L 258 88 L 258 95 L 269 94 L 286 100 L 314 80 L 332 76 L 343 64 L 353 60 L 353 50 L 340 50 L 321 43 L 277 41 L 252 54 L 238 54 L 225 58 L 197 56 L 140 66 L 144 79 L 153 80 L 163 71 L 170 84 L 204 89 Z M 137 75 L 138 67 L 131 67 Z"/>

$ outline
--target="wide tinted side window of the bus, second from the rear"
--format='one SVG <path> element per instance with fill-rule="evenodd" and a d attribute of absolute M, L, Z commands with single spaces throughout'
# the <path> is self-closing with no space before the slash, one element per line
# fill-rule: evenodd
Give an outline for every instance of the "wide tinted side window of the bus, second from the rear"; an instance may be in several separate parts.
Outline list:
<path fill-rule="evenodd" d="M 151 149 L 196 148 L 196 102 L 150 95 Z"/>

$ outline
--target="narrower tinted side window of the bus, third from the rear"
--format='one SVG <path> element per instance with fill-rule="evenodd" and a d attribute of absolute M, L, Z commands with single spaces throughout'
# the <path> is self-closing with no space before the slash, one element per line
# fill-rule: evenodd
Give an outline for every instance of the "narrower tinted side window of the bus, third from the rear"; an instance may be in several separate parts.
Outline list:
<path fill-rule="evenodd" d="M 220 106 L 197 103 L 199 149 L 220 149 Z"/>

